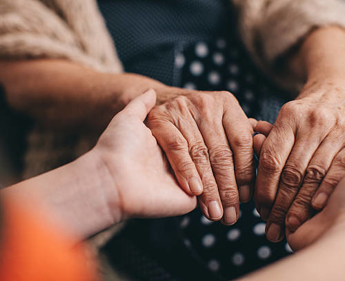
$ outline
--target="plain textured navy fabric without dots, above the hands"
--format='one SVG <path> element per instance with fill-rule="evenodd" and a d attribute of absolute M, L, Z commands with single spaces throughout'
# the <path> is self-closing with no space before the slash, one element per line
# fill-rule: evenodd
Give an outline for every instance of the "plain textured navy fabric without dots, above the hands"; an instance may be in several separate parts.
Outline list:
<path fill-rule="evenodd" d="M 226 0 L 98 0 L 126 72 L 167 85 L 179 84 L 177 52 L 190 43 L 224 33 L 229 17 Z"/>

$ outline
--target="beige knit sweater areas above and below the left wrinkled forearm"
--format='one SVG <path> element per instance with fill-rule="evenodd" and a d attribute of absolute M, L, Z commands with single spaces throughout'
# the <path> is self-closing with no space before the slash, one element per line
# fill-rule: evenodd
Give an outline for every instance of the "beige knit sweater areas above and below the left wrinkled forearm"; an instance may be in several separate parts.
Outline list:
<path fill-rule="evenodd" d="M 1 0 L 0 59 L 68 59 L 100 72 L 122 72 L 94 0 Z M 97 136 L 34 127 L 28 134 L 23 178 L 74 160 Z"/>

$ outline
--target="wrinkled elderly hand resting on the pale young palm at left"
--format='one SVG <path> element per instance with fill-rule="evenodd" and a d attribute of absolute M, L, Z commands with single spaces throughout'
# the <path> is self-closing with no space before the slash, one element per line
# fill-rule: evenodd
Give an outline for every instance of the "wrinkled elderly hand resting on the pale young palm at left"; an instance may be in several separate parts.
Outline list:
<path fill-rule="evenodd" d="M 204 215 L 233 225 L 239 198 L 247 202 L 251 197 L 253 128 L 233 94 L 183 91 L 153 108 L 148 127 L 179 185 L 199 195 Z"/>

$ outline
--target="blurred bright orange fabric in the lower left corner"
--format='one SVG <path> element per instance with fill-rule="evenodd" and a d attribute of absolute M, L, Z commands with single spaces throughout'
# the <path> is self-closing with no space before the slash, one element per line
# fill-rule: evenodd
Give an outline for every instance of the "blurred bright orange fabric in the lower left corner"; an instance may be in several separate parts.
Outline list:
<path fill-rule="evenodd" d="M 1 202 L 1 281 L 91 281 L 95 266 L 82 247 L 70 249 L 68 241 L 48 229 L 31 211 Z"/>

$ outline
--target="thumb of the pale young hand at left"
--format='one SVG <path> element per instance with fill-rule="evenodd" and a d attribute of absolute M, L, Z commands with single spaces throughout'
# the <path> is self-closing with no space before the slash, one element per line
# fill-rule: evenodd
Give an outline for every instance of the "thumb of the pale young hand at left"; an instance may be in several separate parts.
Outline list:
<path fill-rule="evenodd" d="M 155 90 L 149 89 L 144 94 L 134 98 L 124 110 L 121 111 L 121 115 L 137 116 L 141 121 L 144 121 L 148 112 L 152 110 L 152 107 L 156 104 L 157 95 Z"/>

